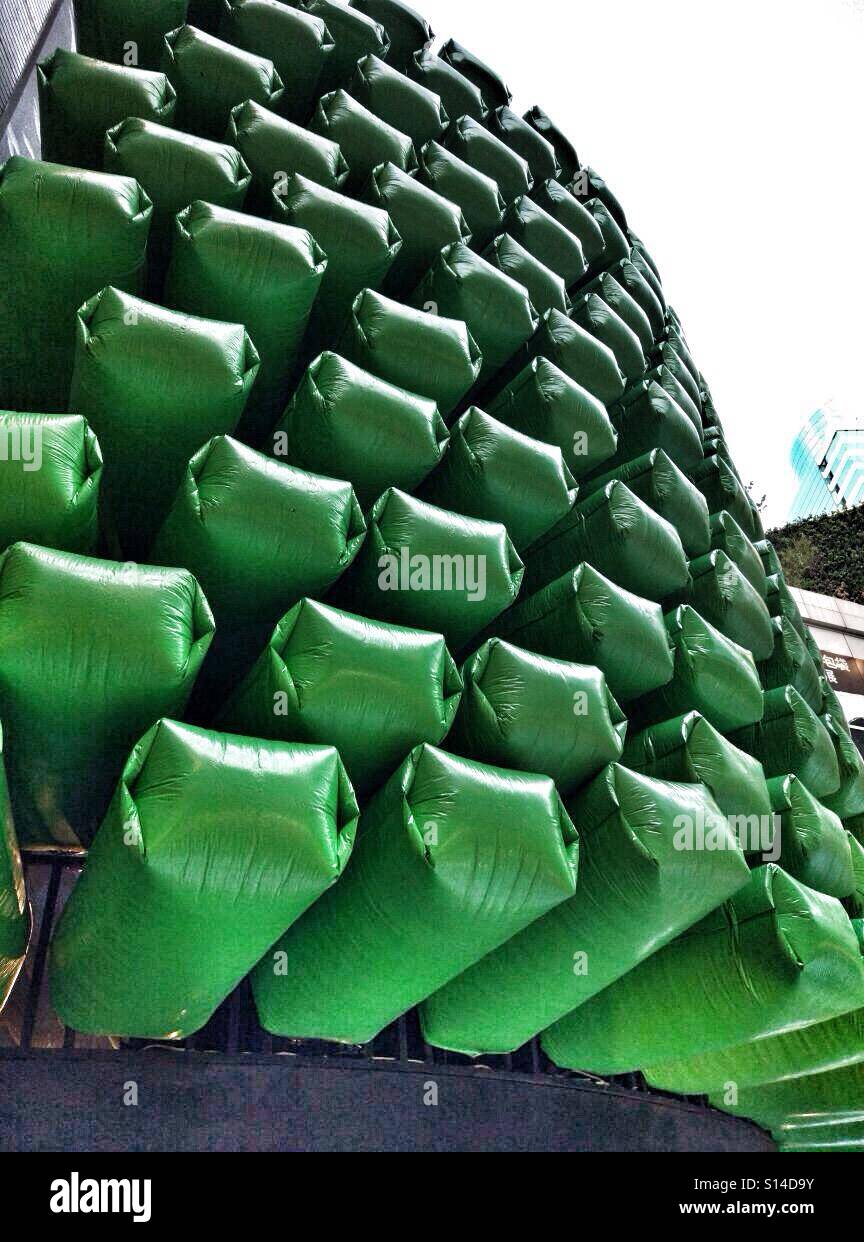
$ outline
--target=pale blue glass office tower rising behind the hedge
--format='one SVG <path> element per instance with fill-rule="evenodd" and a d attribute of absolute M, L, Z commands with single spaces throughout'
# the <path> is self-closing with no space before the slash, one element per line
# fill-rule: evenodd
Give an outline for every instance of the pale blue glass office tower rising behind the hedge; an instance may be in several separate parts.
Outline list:
<path fill-rule="evenodd" d="M 792 468 L 798 492 L 790 522 L 864 503 L 864 416 L 817 410 L 794 438 Z"/>

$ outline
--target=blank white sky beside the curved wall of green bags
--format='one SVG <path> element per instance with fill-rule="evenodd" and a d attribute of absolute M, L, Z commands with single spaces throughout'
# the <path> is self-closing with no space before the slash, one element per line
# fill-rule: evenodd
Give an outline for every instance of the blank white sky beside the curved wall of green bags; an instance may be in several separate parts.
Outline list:
<path fill-rule="evenodd" d="M 539 103 L 654 256 L 767 524 L 864 400 L 864 0 L 412 0 Z"/>

